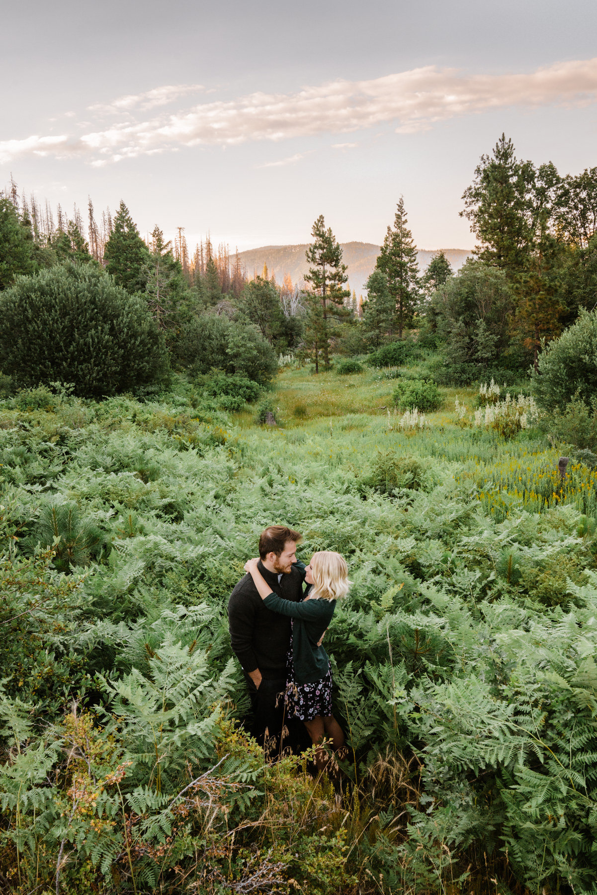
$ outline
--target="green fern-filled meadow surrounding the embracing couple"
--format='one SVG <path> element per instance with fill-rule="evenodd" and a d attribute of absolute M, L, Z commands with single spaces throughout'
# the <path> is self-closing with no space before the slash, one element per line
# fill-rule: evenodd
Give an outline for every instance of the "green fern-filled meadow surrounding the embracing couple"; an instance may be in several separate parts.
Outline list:
<path fill-rule="evenodd" d="M 597 473 L 560 482 L 536 433 L 446 421 L 223 432 L 191 388 L 0 409 L 9 888 L 588 895 Z M 310 755 L 264 763 L 239 724 L 226 600 L 272 521 L 354 582 L 326 635 L 333 782 Z M 84 573 L 56 569 L 63 542 Z"/>

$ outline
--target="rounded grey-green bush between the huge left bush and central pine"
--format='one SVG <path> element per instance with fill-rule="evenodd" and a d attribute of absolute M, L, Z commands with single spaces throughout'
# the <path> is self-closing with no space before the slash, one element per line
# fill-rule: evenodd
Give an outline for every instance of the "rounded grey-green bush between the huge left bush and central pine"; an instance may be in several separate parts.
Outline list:
<path fill-rule="evenodd" d="M 269 382 L 277 373 L 277 355 L 251 325 L 205 314 L 183 331 L 177 358 L 193 375 L 221 370 L 254 382 Z"/>

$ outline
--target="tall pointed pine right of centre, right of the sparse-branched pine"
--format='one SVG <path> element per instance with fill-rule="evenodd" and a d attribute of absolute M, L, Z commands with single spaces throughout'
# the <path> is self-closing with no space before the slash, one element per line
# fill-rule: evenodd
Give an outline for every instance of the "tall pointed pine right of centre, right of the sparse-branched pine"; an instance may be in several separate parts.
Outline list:
<path fill-rule="evenodd" d="M 402 338 L 405 326 L 413 318 L 421 286 L 416 245 L 407 223 L 405 200 L 401 196 L 394 229 L 388 226 L 377 260 L 377 268 L 386 275 L 388 292 L 395 303 L 398 338 Z"/>

